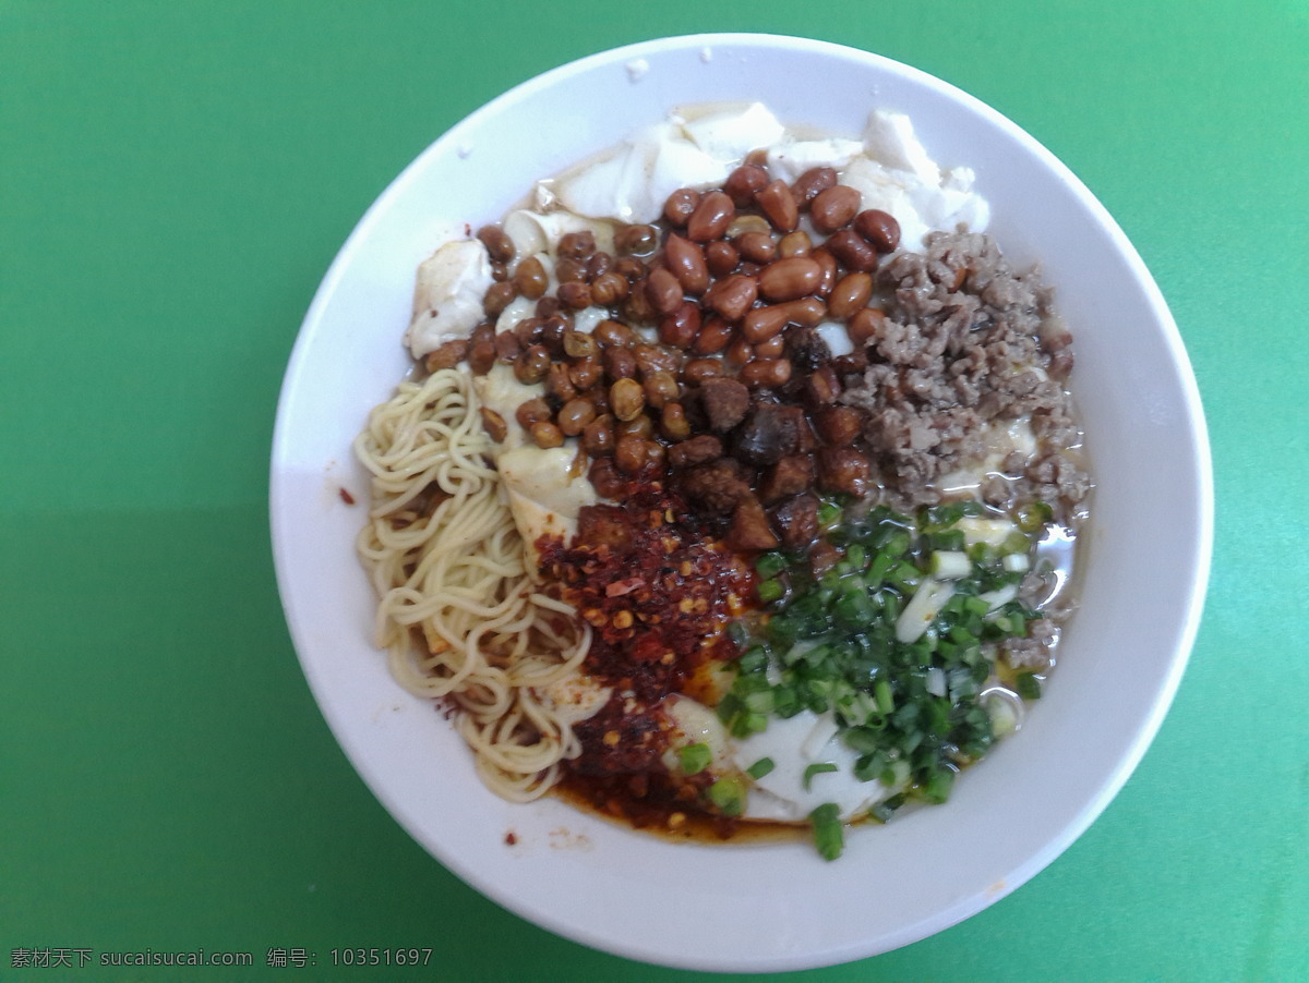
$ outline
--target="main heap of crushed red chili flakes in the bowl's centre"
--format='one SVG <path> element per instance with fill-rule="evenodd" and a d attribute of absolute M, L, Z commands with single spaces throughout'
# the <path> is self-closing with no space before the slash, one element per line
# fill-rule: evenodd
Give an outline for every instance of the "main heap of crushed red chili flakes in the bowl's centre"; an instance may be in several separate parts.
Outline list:
<path fill-rule="evenodd" d="M 539 542 L 541 569 L 594 629 L 586 669 L 653 702 L 706 659 L 738 655 L 724 629 L 754 573 L 660 482 L 620 501 L 583 508 L 576 545 Z"/>

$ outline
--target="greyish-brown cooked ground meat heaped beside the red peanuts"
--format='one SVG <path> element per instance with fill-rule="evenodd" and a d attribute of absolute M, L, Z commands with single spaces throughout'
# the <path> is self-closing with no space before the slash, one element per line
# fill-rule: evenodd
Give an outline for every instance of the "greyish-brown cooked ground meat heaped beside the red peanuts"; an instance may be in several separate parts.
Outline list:
<path fill-rule="evenodd" d="M 1090 482 L 1069 454 L 1081 437 L 1060 382 L 1072 336 L 1039 276 L 1014 271 L 987 235 L 933 233 L 925 252 L 894 256 L 878 285 L 888 316 L 843 362 L 842 401 L 867 410 L 882 497 L 899 508 L 940 501 L 937 478 L 982 461 L 991 424 L 1028 418 L 1037 452 L 1007 461 L 983 497 L 1039 498 L 1069 520 Z"/>

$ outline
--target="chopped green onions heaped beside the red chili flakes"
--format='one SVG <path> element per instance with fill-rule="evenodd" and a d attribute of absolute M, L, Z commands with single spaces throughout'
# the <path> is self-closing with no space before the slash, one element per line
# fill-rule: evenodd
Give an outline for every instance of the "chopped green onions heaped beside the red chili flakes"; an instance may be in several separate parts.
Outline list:
<path fill-rule="evenodd" d="M 759 610 L 728 629 L 742 655 L 719 718 L 744 739 L 778 718 L 830 714 L 856 756 L 846 770 L 895 790 L 872 818 L 885 821 L 908 800 L 945 801 L 959 767 L 1005 731 L 994 719 L 1003 714 L 980 701 L 996 672 L 1024 699 L 1041 695 L 1039 676 L 1011 675 L 997 658 L 1039 617 L 1018 590 L 1051 518 L 1041 502 L 1008 516 L 982 502 L 902 515 L 886 506 L 846 512 L 822 498 L 827 562 L 814 569 L 809 557 L 783 550 L 754 561 Z M 687 774 L 712 766 L 700 750 L 679 753 Z M 772 770 L 761 758 L 734 780 L 713 782 L 707 799 L 740 814 L 750 782 Z M 808 791 L 814 775 L 838 770 L 810 765 L 802 784 Z M 838 807 L 816 810 L 814 826 L 823 855 L 839 854 Z"/>

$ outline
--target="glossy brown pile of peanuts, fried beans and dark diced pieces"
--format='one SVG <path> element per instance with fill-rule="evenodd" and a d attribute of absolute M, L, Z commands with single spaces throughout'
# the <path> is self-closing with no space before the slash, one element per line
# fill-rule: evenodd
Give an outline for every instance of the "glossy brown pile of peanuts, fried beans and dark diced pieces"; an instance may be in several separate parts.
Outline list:
<path fill-rule="evenodd" d="M 562 237 L 552 278 L 537 258 L 517 258 L 500 226 L 478 238 L 496 281 L 486 320 L 427 365 L 466 361 L 486 374 L 501 362 L 542 383 L 517 422 L 539 447 L 579 438 L 601 495 L 670 480 L 721 516 L 730 546 L 759 550 L 808 546 L 817 493 L 868 493 L 864 410 L 838 397 L 885 320 L 874 272 L 899 225 L 860 210 L 834 169 L 787 184 L 747 161 L 721 188 L 673 192 L 657 224 L 620 226 L 613 252 L 590 231 Z M 496 332 L 520 297 L 535 301 L 534 315 Z M 576 329 L 575 312 L 593 306 L 610 316 Z M 844 324 L 852 354 L 833 358 L 816 331 L 831 322 Z M 495 412 L 483 421 L 504 438 Z"/>

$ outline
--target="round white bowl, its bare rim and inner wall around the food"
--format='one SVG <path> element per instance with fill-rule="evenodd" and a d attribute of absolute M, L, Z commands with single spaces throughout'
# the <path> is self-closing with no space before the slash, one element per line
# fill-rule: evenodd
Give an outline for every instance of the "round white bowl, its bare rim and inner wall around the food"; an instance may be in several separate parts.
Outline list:
<path fill-rule="evenodd" d="M 945 805 L 806 843 L 677 844 L 546 800 L 501 801 L 449 723 L 397 686 L 370 644 L 353 537 L 367 495 L 350 444 L 407 370 L 414 271 L 465 225 L 677 105 L 758 99 L 783 122 L 857 135 L 874 107 L 914 119 L 942 166 L 977 171 L 991 231 L 1039 260 L 1076 339 L 1073 386 L 1098 488 L 1081 609 L 1022 732 Z M 287 370 L 272 455 L 272 539 L 305 676 L 355 767 L 436 859 L 500 905 L 634 959 L 797 970 L 939 932 L 1054 860 L 1122 787 L 1168 710 L 1208 571 L 1212 492 L 1195 382 L 1158 289 L 1067 167 L 965 93 L 814 41 L 700 35 L 547 72 L 429 146 L 355 229 Z M 513 834 L 509 837 L 509 834 Z M 512 844 L 507 839 L 513 839 Z"/>

